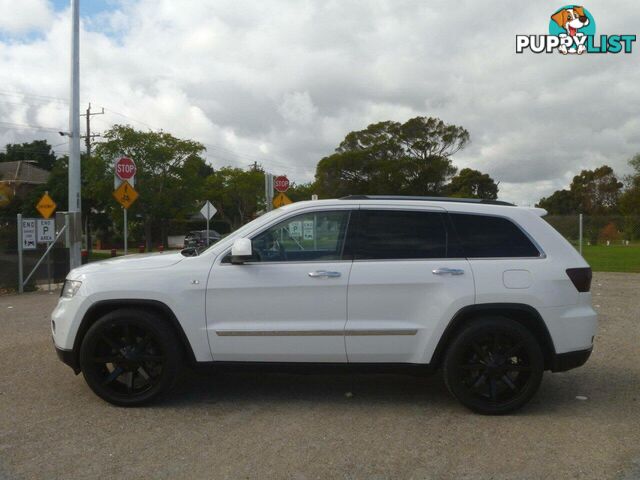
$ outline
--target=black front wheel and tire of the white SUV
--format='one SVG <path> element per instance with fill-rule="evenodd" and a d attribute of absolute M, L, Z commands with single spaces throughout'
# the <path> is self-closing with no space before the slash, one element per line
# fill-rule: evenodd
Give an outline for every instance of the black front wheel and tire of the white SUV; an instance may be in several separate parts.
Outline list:
<path fill-rule="evenodd" d="M 80 367 L 96 395 L 114 405 L 144 405 L 173 387 L 182 349 L 161 317 L 137 309 L 106 314 L 82 340 Z"/>

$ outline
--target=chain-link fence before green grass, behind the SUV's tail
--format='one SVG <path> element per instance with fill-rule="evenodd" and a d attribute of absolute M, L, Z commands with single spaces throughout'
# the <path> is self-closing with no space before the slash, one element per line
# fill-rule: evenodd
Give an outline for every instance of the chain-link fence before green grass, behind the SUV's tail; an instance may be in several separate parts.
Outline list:
<path fill-rule="evenodd" d="M 640 273 L 640 215 L 547 215 L 596 272 Z M 582 240 L 582 242 L 580 242 Z"/>

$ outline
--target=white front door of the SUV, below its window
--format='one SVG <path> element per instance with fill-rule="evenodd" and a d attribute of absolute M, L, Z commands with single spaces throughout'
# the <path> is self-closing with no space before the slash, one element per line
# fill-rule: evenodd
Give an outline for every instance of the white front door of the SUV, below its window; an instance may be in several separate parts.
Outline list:
<path fill-rule="evenodd" d="M 336 261 L 216 266 L 206 307 L 214 361 L 345 362 L 351 265 Z M 320 276 L 309 275 L 317 272 Z"/>

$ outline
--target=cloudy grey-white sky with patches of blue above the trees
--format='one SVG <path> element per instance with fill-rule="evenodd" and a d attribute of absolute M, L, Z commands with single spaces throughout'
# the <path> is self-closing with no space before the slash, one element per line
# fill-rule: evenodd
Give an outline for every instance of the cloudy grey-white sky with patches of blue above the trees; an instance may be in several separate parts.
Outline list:
<path fill-rule="evenodd" d="M 214 167 L 311 180 L 344 136 L 382 120 L 464 126 L 454 158 L 531 204 L 583 168 L 640 152 L 631 55 L 515 53 L 562 4 L 539 1 L 81 0 L 81 101 L 114 123 L 205 144 Z M 640 3 L 591 0 L 597 34 L 638 34 Z M 67 129 L 69 2 L 0 0 L 0 145 Z"/>

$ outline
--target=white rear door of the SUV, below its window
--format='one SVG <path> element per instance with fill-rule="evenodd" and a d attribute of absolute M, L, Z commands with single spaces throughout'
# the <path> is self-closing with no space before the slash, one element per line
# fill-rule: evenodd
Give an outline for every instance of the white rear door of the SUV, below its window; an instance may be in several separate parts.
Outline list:
<path fill-rule="evenodd" d="M 434 274 L 438 269 L 454 272 Z M 355 261 L 345 332 L 349 362 L 428 362 L 446 324 L 473 302 L 465 259 Z"/>

